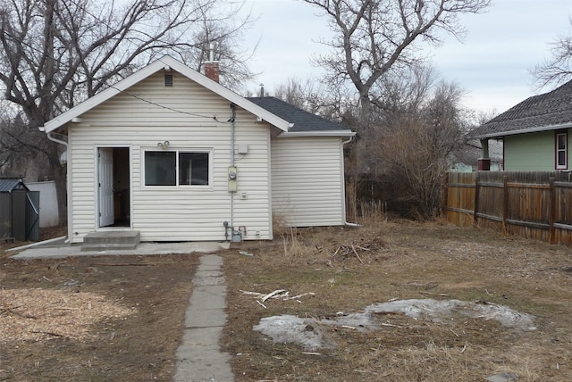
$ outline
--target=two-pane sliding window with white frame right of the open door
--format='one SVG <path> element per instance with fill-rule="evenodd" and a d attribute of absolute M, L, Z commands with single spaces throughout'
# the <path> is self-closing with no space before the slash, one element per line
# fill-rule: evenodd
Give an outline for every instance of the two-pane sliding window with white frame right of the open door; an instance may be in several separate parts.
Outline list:
<path fill-rule="evenodd" d="M 145 186 L 208 186 L 210 152 L 146 151 Z"/>

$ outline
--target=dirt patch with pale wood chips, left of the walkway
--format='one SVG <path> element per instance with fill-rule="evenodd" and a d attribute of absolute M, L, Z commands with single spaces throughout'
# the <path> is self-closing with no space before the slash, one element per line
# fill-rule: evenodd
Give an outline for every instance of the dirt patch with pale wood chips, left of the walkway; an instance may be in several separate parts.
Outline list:
<path fill-rule="evenodd" d="M 198 254 L 0 253 L 0 380 L 171 380 Z"/>

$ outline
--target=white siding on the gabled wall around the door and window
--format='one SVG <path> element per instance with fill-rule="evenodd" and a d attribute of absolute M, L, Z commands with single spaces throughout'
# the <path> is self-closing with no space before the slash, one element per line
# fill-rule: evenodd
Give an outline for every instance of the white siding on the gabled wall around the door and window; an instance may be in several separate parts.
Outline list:
<path fill-rule="evenodd" d="M 230 104 L 178 73 L 173 75 L 173 87 L 164 87 L 164 75 L 157 73 L 69 125 L 72 242 L 81 242 L 97 229 L 96 154 L 97 147 L 105 146 L 130 147 L 131 228 L 140 231 L 142 241 L 224 240 L 223 221 L 231 220 L 235 227 L 247 228 L 245 239 L 272 237 L 267 125 L 237 111 L 235 143 L 248 144 L 248 154 L 235 157 L 239 192 L 229 193 Z M 156 150 L 165 140 L 172 150 L 212 150 L 212 187 L 145 187 L 144 152 Z M 247 199 L 241 199 L 241 192 Z"/>

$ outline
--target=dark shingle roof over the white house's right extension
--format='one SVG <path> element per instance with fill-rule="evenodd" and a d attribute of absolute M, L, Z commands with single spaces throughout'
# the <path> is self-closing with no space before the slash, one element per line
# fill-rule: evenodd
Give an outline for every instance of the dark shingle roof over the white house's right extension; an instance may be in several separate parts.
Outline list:
<path fill-rule="evenodd" d="M 282 120 L 293 123 L 289 132 L 310 132 L 310 131 L 336 131 L 349 130 L 348 127 L 332 120 L 306 112 L 298 107 L 288 104 L 273 96 L 248 97 L 248 101 L 257 104 L 268 112 L 272 112 Z"/>

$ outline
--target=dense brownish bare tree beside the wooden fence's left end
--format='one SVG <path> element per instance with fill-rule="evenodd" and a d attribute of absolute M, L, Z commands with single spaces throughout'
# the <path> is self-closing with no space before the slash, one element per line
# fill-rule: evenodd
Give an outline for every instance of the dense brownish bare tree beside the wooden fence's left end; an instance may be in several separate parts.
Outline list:
<path fill-rule="evenodd" d="M 386 179 L 424 217 L 441 213 L 442 177 L 453 153 L 463 145 L 467 118 L 460 105 L 463 92 L 441 82 L 416 110 L 396 113 L 390 134 L 378 138 L 377 158 L 386 163 Z"/>

